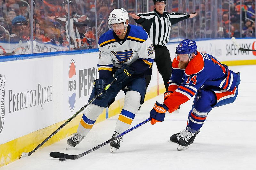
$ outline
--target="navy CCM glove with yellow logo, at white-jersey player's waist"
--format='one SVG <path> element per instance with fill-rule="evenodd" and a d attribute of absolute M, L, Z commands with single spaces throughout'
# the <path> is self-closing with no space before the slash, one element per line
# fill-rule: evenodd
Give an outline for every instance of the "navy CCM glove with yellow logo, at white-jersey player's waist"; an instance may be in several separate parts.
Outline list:
<path fill-rule="evenodd" d="M 132 76 L 134 73 L 135 71 L 129 69 L 129 67 L 125 64 L 120 69 L 116 70 L 113 76 L 117 78 L 117 83 L 122 83 L 125 80 L 127 80 L 130 76 Z"/>

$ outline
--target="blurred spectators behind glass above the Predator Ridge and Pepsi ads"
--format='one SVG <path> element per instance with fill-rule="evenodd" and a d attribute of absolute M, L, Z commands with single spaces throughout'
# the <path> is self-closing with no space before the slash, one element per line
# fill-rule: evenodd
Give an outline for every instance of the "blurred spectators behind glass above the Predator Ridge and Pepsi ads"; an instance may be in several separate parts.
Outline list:
<path fill-rule="evenodd" d="M 0 54 L 31 53 L 31 23 L 34 53 L 97 48 L 94 0 L 34 0 L 32 5 L 33 18 L 30 0 L 0 1 Z"/>

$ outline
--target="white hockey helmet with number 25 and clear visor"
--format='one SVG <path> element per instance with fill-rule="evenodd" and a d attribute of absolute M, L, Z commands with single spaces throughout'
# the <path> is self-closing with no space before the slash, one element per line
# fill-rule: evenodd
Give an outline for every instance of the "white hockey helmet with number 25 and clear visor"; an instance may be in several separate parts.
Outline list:
<path fill-rule="evenodd" d="M 126 24 L 126 20 L 129 21 L 129 15 L 124 8 L 114 9 L 108 17 L 108 29 L 115 30 L 111 24 L 124 23 L 124 29 L 126 30 L 128 26 L 128 24 Z"/>

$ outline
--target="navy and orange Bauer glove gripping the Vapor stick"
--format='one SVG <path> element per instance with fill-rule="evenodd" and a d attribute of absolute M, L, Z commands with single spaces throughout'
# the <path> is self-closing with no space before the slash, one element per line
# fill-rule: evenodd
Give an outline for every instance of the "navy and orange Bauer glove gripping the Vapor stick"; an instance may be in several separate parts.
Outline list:
<path fill-rule="evenodd" d="M 156 124 L 156 122 L 164 121 L 165 112 L 167 112 L 168 107 L 164 104 L 158 102 L 155 103 L 153 109 L 150 111 L 151 124 Z"/>

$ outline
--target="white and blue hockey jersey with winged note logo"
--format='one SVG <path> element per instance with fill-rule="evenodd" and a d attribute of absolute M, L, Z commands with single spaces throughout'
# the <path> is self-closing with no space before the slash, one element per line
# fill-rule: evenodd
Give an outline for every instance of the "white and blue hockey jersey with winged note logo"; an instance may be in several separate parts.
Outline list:
<path fill-rule="evenodd" d="M 124 64 L 130 66 L 135 74 L 148 70 L 154 62 L 155 51 L 148 33 L 140 26 L 128 25 L 126 36 L 119 39 L 114 31 L 107 31 L 99 39 L 99 78 L 106 71 L 119 69 Z"/>

